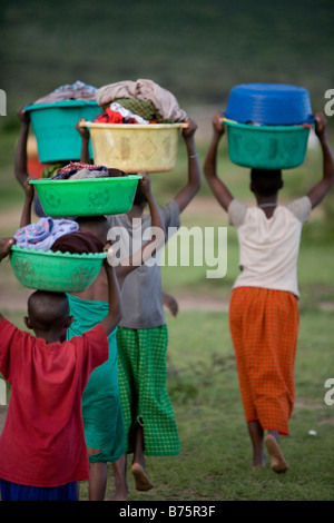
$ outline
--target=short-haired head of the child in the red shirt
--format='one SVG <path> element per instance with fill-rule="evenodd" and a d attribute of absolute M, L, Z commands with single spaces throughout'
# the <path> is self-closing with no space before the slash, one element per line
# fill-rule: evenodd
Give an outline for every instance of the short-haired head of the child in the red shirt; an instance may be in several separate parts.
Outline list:
<path fill-rule="evenodd" d="M 28 316 L 24 318 L 28 328 L 35 333 L 63 333 L 71 323 L 69 303 L 65 293 L 36 290 L 28 299 Z"/>

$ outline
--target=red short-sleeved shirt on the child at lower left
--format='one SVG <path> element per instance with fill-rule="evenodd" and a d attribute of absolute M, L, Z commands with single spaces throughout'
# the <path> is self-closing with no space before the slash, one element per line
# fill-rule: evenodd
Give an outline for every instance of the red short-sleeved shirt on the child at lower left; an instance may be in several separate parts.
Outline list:
<path fill-rule="evenodd" d="M 30 486 L 88 480 L 81 397 L 108 358 L 106 330 L 47 344 L 0 320 L 0 372 L 11 384 L 0 437 L 0 478 Z"/>

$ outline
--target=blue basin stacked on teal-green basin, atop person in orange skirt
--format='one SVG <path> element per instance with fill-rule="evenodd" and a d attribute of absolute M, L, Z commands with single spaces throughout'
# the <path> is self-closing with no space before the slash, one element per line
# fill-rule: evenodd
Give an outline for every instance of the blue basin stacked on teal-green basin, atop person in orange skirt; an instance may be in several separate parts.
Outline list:
<path fill-rule="evenodd" d="M 225 111 L 228 155 L 234 164 L 291 169 L 305 160 L 314 122 L 306 89 L 285 83 L 243 83 Z"/>

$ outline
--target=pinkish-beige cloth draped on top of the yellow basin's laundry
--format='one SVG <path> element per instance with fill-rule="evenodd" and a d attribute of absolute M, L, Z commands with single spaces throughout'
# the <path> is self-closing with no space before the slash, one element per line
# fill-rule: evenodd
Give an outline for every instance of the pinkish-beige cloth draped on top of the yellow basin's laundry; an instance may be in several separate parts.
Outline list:
<path fill-rule="evenodd" d="M 153 80 L 125 80 L 102 86 L 96 91 L 96 100 L 100 107 L 110 106 L 112 101 L 122 98 L 151 102 L 165 120 L 177 122 L 187 118 L 175 96 Z"/>

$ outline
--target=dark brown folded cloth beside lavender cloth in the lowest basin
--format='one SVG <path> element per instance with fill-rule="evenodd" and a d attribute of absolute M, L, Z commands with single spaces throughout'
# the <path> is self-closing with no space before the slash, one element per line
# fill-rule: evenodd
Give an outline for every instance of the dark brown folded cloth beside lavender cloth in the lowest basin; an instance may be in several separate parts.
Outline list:
<path fill-rule="evenodd" d="M 70 254 L 102 253 L 104 243 L 92 233 L 70 233 L 58 238 L 51 250 Z"/>

